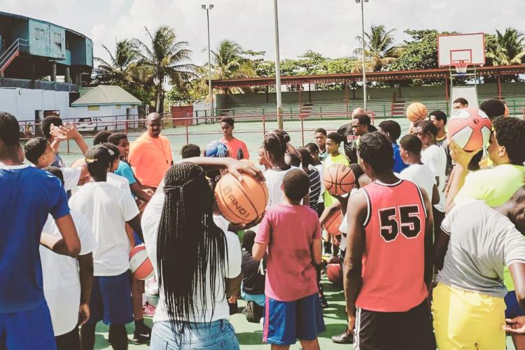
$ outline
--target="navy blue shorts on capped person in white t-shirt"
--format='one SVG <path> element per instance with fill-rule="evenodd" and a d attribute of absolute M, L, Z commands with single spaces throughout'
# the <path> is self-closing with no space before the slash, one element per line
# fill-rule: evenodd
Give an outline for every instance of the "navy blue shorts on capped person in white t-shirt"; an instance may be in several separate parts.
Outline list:
<path fill-rule="evenodd" d="M 118 276 L 94 276 L 87 324 L 125 325 L 133 321 L 130 272 Z"/>

